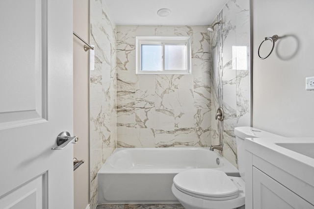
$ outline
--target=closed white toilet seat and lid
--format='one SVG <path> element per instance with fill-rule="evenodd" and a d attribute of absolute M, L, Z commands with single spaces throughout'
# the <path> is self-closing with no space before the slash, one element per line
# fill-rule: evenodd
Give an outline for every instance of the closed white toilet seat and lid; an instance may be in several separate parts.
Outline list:
<path fill-rule="evenodd" d="M 217 201 L 235 199 L 244 188 L 241 180 L 236 179 L 234 182 L 224 172 L 206 168 L 190 169 L 177 174 L 173 185 L 187 195 Z"/>

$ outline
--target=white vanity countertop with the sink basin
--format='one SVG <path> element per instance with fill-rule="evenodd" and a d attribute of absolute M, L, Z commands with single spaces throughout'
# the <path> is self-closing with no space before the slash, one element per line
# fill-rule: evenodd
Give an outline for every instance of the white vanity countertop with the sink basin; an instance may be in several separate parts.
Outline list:
<path fill-rule="evenodd" d="M 314 186 L 314 138 L 247 138 L 245 149 Z"/>

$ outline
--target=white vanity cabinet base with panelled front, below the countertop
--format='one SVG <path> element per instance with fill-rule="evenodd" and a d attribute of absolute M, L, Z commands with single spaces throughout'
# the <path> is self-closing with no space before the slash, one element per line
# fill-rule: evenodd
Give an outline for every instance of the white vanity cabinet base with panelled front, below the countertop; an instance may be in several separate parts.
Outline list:
<path fill-rule="evenodd" d="M 302 165 L 261 139 L 245 139 L 245 208 L 314 209 L 314 164 Z"/>

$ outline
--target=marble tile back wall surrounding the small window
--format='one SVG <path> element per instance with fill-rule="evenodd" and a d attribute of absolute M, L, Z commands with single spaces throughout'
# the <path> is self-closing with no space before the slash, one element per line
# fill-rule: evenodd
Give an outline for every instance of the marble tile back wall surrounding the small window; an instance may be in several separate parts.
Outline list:
<path fill-rule="evenodd" d="M 117 25 L 118 147 L 211 145 L 207 27 Z M 190 36 L 192 74 L 136 75 L 136 36 Z"/>

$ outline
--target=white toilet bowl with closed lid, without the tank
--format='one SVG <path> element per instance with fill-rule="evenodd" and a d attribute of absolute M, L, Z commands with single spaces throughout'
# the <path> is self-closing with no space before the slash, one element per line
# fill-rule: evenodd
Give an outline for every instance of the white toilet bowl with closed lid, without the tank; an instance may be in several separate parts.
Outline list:
<path fill-rule="evenodd" d="M 233 184 L 230 190 L 222 189 L 226 188 L 223 187 L 225 183 L 229 185 L 230 182 Z M 171 190 L 185 209 L 235 209 L 238 207 L 244 209 L 245 207 L 243 179 L 227 176 L 224 172 L 211 168 L 194 168 L 177 174 Z"/>

